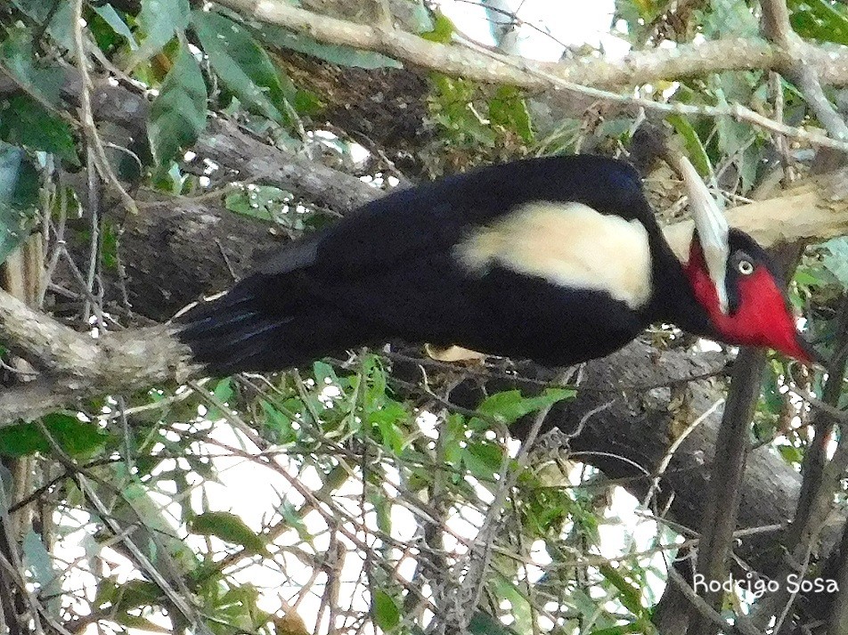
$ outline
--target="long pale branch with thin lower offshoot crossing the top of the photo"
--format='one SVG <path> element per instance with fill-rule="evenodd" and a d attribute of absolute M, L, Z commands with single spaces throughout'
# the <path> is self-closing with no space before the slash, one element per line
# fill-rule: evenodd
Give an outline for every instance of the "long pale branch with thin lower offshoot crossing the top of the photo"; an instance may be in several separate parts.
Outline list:
<path fill-rule="evenodd" d="M 633 52 L 620 61 L 585 57 L 577 61 L 540 62 L 517 55 L 494 53 L 473 43 L 467 43 L 466 46 L 436 44 L 398 29 L 338 20 L 299 9 L 281 0 L 220 0 L 219 4 L 257 20 L 304 32 L 323 42 L 387 53 L 456 77 L 517 85 L 528 90 L 565 90 L 607 102 L 627 102 L 666 113 L 730 116 L 775 133 L 848 152 L 848 142 L 840 135 L 833 139 L 805 128 L 786 126 L 742 104 L 709 106 L 655 102 L 632 94 L 602 90 L 616 85 L 640 85 L 658 79 L 680 79 L 723 70 L 785 68 L 785 48 L 765 40 L 725 39 L 700 45 L 679 45 L 671 51 L 654 49 Z M 814 69 L 818 77 L 829 77 L 830 83 L 834 85 L 848 83 L 848 49 L 845 47 L 831 50 L 806 44 L 799 39 L 793 54 L 803 59 L 805 66 Z M 802 76 L 809 79 L 799 74 L 799 77 Z M 815 92 L 811 92 L 811 95 L 815 97 Z M 812 105 L 821 106 L 819 102 Z"/>

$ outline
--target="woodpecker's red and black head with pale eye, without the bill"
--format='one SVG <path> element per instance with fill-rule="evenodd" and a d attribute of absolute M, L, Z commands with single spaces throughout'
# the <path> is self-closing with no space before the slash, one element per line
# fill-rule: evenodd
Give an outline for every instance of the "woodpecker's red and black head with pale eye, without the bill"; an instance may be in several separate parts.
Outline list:
<path fill-rule="evenodd" d="M 697 301 L 709 315 L 716 336 L 728 344 L 764 346 L 805 363 L 818 355 L 795 328 L 784 283 L 765 251 L 745 232 L 730 230 L 725 284 L 728 312 L 723 313 L 697 232 L 685 266 Z"/>

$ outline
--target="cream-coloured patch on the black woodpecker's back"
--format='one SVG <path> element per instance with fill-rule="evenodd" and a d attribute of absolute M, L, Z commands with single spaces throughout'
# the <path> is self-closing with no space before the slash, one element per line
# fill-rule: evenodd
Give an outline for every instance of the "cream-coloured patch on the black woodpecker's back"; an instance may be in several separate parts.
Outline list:
<path fill-rule="evenodd" d="M 456 250 L 471 271 L 485 273 L 497 264 L 563 287 L 607 291 L 633 309 L 651 294 L 645 227 L 582 203 L 537 201 L 516 208 Z"/>

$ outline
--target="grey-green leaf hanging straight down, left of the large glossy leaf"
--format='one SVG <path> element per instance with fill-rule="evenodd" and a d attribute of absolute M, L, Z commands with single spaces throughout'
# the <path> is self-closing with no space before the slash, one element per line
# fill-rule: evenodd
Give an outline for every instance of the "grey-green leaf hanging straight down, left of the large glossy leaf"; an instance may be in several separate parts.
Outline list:
<path fill-rule="evenodd" d="M 206 100 L 206 82 L 200 66 L 194 55 L 183 48 L 151 105 L 147 129 L 153 156 L 160 166 L 197 141 L 206 127 Z"/>

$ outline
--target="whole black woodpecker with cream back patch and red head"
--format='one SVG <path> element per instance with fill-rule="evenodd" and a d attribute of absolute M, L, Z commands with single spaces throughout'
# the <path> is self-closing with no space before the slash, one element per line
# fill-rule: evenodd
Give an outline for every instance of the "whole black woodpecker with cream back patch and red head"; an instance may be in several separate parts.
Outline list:
<path fill-rule="evenodd" d="M 706 191 L 693 187 L 692 199 Z M 281 248 L 179 317 L 178 337 L 216 375 L 393 338 L 566 366 L 653 322 L 811 362 L 769 256 L 705 199 L 693 200 L 681 262 L 622 161 L 484 167 L 392 192 Z"/>

